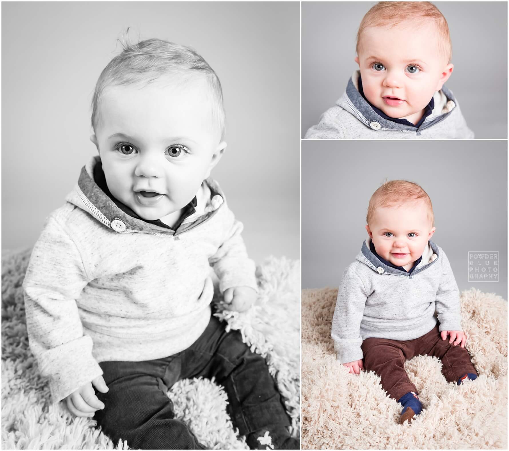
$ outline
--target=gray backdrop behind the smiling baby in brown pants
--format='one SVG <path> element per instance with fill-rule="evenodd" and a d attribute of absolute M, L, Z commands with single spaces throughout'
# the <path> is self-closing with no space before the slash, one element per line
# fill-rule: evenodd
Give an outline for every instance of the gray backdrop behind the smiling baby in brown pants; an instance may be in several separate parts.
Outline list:
<path fill-rule="evenodd" d="M 507 141 L 303 141 L 302 287 L 340 284 L 368 236 L 367 205 L 385 178 L 413 181 L 430 196 L 431 240 L 447 254 L 460 291 L 507 300 Z M 469 281 L 468 251 L 498 251 L 499 282 Z"/>

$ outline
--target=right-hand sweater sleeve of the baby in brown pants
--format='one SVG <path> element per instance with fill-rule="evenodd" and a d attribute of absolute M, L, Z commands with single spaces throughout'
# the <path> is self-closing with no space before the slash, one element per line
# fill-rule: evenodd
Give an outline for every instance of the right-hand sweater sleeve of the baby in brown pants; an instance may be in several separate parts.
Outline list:
<path fill-rule="evenodd" d="M 454 278 L 453 269 L 442 250 L 442 275 L 438 286 L 435 307 L 440 326 L 438 330 L 462 330 L 460 311 L 460 290 Z"/>

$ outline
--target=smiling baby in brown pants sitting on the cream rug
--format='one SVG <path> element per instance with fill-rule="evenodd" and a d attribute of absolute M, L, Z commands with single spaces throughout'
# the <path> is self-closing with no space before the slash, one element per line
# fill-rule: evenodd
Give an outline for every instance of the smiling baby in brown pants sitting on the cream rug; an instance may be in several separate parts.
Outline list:
<path fill-rule="evenodd" d="M 422 409 L 405 360 L 438 357 L 445 379 L 458 385 L 477 372 L 465 349 L 453 271 L 430 241 L 429 196 L 416 183 L 386 182 L 371 197 L 366 221 L 369 237 L 343 273 L 331 335 L 337 359 L 350 373 L 364 368 L 380 376 L 383 389 L 403 405 L 403 424 Z"/>

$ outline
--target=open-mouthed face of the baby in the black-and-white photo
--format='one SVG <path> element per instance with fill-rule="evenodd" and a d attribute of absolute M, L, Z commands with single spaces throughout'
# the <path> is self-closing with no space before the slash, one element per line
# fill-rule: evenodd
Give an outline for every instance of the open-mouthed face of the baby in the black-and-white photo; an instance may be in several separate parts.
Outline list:
<path fill-rule="evenodd" d="M 219 161 L 226 143 L 206 94 L 201 81 L 104 91 L 91 140 L 109 191 L 140 218 L 175 222 Z"/>

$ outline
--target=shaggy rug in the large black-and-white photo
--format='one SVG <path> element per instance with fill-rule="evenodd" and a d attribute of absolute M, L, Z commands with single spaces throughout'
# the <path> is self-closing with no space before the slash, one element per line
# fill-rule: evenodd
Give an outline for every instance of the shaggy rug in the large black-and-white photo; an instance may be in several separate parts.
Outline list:
<path fill-rule="evenodd" d="M 95 421 L 75 418 L 63 403 L 49 404 L 49 388 L 38 372 L 26 335 L 21 284 L 30 249 L 2 255 L 2 448 L 127 449 L 94 428 Z M 257 268 L 259 299 L 247 312 L 217 316 L 240 330 L 252 350 L 262 354 L 300 433 L 300 265 L 286 258 L 267 259 Z M 248 449 L 227 414 L 227 395 L 207 379 L 183 380 L 168 391 L 176 417 L 211 449 Z"/>

